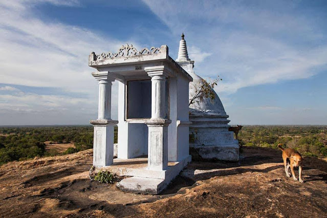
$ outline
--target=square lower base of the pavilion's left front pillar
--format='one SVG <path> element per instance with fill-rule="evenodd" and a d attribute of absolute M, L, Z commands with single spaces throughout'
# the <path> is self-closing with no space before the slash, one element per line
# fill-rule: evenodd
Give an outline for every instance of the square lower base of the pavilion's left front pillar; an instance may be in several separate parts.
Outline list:
<path fill-rule="evenodd" d="M 91 120 L 94 126 L 93 166 L 110 166 L 114 163 L 114 126 L 117 120 Z"/>

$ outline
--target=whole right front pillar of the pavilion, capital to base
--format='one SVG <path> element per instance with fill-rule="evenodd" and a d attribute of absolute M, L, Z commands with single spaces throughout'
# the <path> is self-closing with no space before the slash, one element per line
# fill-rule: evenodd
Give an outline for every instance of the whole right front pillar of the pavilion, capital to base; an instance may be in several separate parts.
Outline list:
<path fill-rule="evenodd" d="M 148 126 L 148 169 L 166 170 L 168 167 L 168 125 L 166 119 L 166 77 L 164 66 L 144 68 L 151 77 L 151 119 Z"/>

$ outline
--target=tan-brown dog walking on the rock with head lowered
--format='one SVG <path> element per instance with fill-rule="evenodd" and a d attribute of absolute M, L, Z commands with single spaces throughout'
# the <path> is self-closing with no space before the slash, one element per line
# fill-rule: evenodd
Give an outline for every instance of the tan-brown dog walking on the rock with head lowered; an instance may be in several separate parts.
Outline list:
<path fill-rule="evenodd" d="M 302 156 L 299 152 L 295 151 L 292 148 L 282 148 L 282 144 L 278 144 L 280 150 L 282 150 L 282 160 L 284 161 L 285 172 L 287 177 L 291 177 L 291 173 L 289 173 L 289 168 L 291 167 L 293 179 L 297 181 L 294 174 L 294 167 L 299 167 L 299 182 L 303 183 L 302 180 Z"/>

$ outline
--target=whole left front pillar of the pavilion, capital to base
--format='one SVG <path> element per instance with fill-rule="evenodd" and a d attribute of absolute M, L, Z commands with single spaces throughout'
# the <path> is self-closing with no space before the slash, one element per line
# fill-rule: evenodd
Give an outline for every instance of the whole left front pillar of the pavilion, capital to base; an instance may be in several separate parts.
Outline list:
<path fill-rule="evenodd" d="M 93 165 L 110 166 L 114 163 L 114 126 L 118 123 L 111 119 L 111 89 L 114 79 L 108 72 L 94 72 L 99 81 L 98 119 L 91 120 L 94 126 Z"/>

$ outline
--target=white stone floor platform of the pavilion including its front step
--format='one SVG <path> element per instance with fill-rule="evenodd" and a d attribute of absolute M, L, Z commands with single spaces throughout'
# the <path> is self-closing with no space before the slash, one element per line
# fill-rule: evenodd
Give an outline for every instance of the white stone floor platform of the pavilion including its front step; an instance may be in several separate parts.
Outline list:
<path fill-rule="evenodd" d="M 159 194 L 191 162 L 191 156 L 179 162 L 168 162 L 167 170 L 148 170 L 147 161 L 146 156 L 133 159 L 116 158 L 111 166 L 95 166 L 95 172 L 106 170 L 117 176 L 130 177 L 117 184 L 117 187 L 123 191 Z"/>

